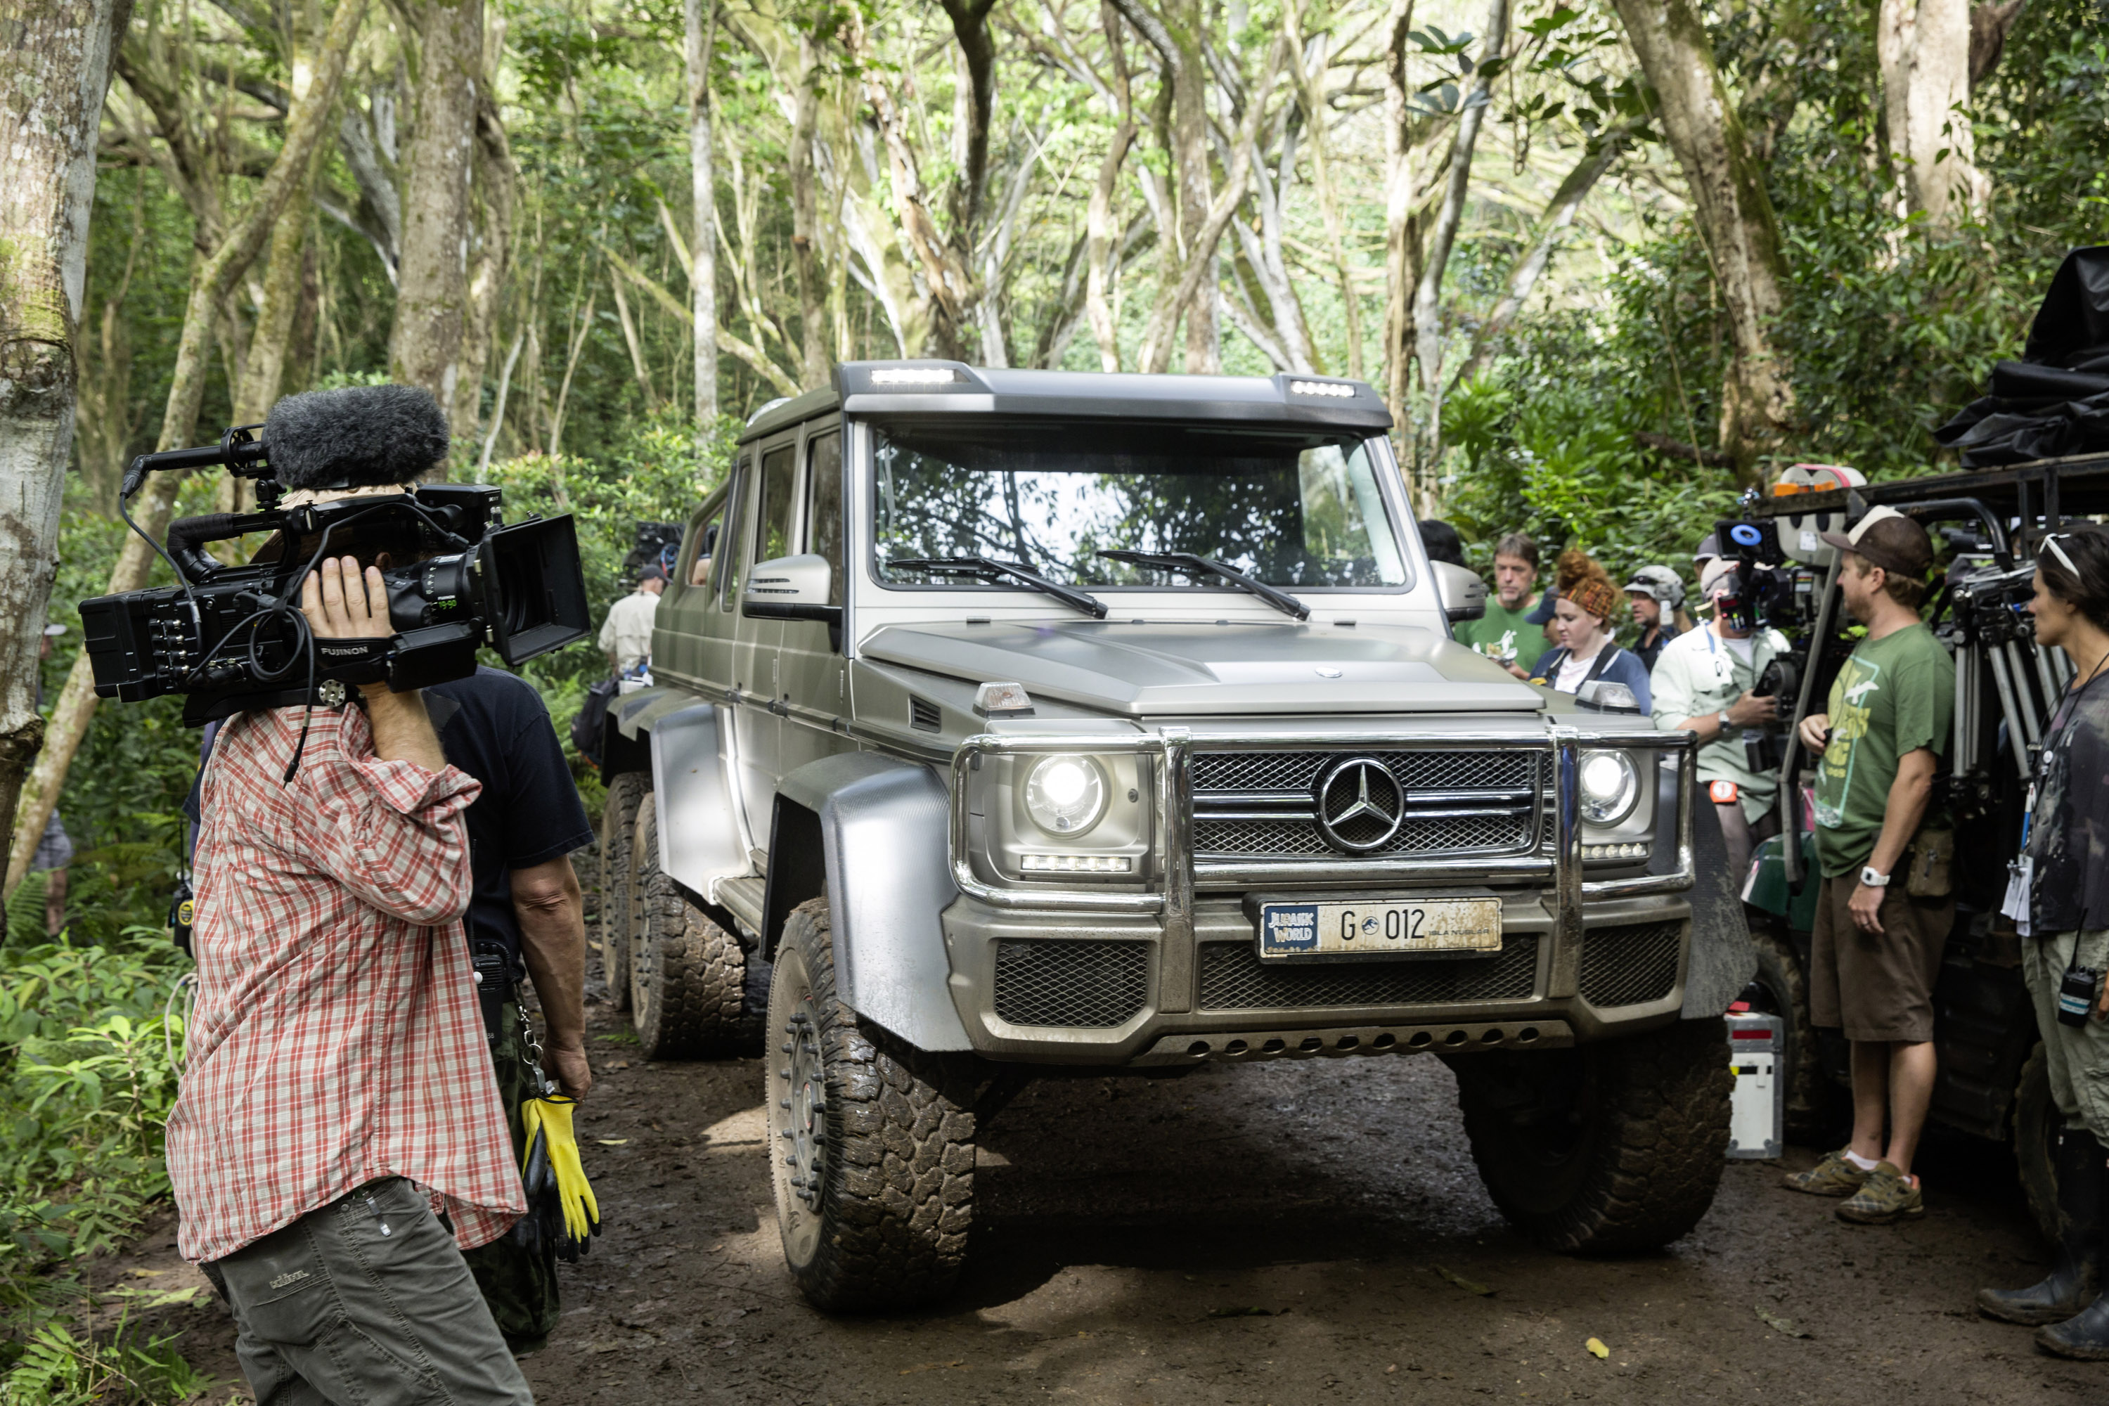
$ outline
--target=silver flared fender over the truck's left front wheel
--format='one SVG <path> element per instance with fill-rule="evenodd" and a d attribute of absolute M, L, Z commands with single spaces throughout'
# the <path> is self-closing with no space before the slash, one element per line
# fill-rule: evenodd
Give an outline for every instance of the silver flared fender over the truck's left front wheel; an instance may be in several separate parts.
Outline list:
<path fill-rule="evenodd" d="M 812 843 L 812 822 L 791 822 L 793 809 L 818 820 L 844 1003 L 920 1050 L 972 1050 L 951 1003 L 951 959 L 939 921 L 960 896 L 945 782 L 930 767 L 879 753 L 841 753 L 785 776 L 770 845 L 772 944 L 780 915 L 804 900 L 791 892 L 799 871 L 810 871 L 804 856 L 776 852 L 797 831 Z"/>

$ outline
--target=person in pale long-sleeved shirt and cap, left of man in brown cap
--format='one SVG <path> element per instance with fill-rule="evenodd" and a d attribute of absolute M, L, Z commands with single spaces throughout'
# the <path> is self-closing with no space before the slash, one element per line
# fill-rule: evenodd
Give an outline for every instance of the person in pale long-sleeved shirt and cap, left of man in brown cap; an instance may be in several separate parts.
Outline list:
<path fill-rule="evenodd" d="M 1717 559 L 1706 567 L 1700 599 L 1713 607 L 1713 620 L 1662 647 L 1647 687 L 1653 694 L 1656 727 L 1696 731 L 1700 738 L 1700 780 L 1721 818 L 1729 873 L 1736 887 L 1742 887 L 1750 873 L 1750 850 L 1780 831 L 1772 807 L 1780 795 L 1780 776 L 1750 769 L 1742 734 L 1780 717 L 1780 700 L 1753 689 L 1765 666 L 1786 651 L 1786 637 L 1729 624 L 1721 597 L 1731 594 L 1734 584 L 1736 563 Z"/>

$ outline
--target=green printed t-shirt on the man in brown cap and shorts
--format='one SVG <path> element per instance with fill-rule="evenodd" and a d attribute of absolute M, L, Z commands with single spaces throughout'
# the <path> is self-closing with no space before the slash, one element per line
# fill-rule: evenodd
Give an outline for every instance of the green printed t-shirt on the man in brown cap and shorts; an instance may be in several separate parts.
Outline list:
<path fill-rule="evenodd" d="M 1824 877 L 1875 852 L 1904 753 L 1949 750 L 1955 660 L 1923 624 L 1862 641 L 1831 685 L 1831 746 L 1816 763 L 1816 852 Z"/>

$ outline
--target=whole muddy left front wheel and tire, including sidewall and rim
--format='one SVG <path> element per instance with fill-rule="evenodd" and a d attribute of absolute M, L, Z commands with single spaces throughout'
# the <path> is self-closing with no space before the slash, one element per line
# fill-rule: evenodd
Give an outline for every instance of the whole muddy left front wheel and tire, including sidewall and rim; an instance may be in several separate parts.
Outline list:
<path fill-rule="evenodd" d="M 766 1037 L 776 1227 L 799 1292 L 825 1311 L 947 1294 L 974 1221 L 976 1060 L 858 1027 L 835 999 L 825 898 L 785 921 Z"/>

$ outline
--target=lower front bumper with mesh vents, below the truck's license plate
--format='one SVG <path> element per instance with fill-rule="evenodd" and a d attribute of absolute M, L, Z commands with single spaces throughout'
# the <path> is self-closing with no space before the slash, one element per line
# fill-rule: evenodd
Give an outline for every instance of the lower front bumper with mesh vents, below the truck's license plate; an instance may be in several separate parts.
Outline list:
<path fill-rule="evenodd" d="M 1550 894 L 1510 892 L 1499 957 L 1263 968 L 1236 898 L 1202 900 L 1181 938 L 1141 915 L 962 896 L 945 911 L 945 944 L 953 1005 L 983 1056 L 1183 1065 L 1550 1048 L 1645 1031 L 1677 1020 L 1689 919 L 1675 896 L 1622 898 L 1590 904 L 1569 934 Z"/>

